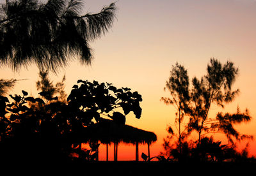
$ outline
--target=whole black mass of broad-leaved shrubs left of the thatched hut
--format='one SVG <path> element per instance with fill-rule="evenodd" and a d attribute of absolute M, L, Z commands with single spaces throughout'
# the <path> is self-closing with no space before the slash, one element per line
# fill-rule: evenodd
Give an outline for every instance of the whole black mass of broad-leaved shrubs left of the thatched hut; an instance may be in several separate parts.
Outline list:
<path fill-rule="evenodd" d="M 134 112 L 140 119 L 141 95 L 131 89 L 116 89 L 112 84 L 78 80 L 68 101 L 52 101 L 10 95 L 12 102 L 0 96 L 0 154 L 6 162 L 20 161 L 70 161 L 70 154 L 93 161 L 97 156 L 98 143 L 90 142 L 90 152 L 76 150 L 82 142 L 88 142 L 83 129 L 99 122 L 104 115 L 118 124 L 125 123 L 125 115 Z M 36 107 L 36 108 L 35 108 Z M 123 110 L 114 112 L 113 110 Z"/>

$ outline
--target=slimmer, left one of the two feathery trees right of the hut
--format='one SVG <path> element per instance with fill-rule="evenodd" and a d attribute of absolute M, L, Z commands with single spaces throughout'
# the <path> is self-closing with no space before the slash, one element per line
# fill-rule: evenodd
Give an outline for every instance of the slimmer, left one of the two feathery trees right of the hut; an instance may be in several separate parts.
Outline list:
<path fill-rule="evenodd" d="M 175 125 L 179 125 L 179 152 L 181 153 L 182 139 L 186 136 L 186 131 L 182 131 L 180 124 L 184 119 L 186 109 L 189 101 L 189 78 L 188 71 L 176 62 L 175 66 L 172 66 L 170 71 L 170 78 L 166 81 L 166 87 L 164 90 L 168 90 L 171 94 L 171 98 L 162 97 L 161 100 L 166 105 L 173 105 L 177 112 L 175 113 Z M 168 132 L 170 135 L 174 135 L 173 129 L 169 126 Z"/>

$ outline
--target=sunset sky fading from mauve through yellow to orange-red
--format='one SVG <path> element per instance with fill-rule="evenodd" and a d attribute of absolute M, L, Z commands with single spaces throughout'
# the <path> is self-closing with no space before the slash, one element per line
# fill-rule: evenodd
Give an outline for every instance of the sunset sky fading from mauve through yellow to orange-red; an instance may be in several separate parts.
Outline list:
<path fill-rule="evenodd" d="M 103 6 L 115 1 L 87 0 L 84 13 L 99 12 Z M 216 112 L 236 112 L 248 108 L 253 119 L 248 124 L 236 126 L 240 133 L 256 138 L 256 1 L 252 0 L 119 0 L 113 27 L 105 36 L 90 43 L 94 59 L 91 66 L 78 61 L 51 73 L 54 82 L 66 74 L 66 91 L 69 94 L 77 80 L 109 82 L 116 87 L 130 87 L 138 91 L 141 102 L 141 119 L 133 114 L 127 124 L 153 131 L 157 142 L 150 149 L 151 156 L 163 151 L 163 138 L 168 135 L 166 126 L 173 125 L 175 109 L 159 99 L 168 97 L 164 85 L 175 62 L 188 69 L 189 78 L 202 77 L 212 57 L 222 63 L 232 61 L 239 68 L 234 89 L 239 96 L 224 109 L 212 106 L 210 116 Z M 22 68 L 19 73 L 2 67 L 1 78 L 26 79 L 18 82 L 11 94 L 21 90 L 37 95 L 35 82 L 38 69 L 35 65 Z M 223 139 L 224 136 L 216 136 Z M 242 149 L 246 142 L 239 144 Z M 111 146 L 113 148 L 113 146 Z M 110 148 L 109 150 L 113 150 Z M 250 141 L 250 155 L 256 156 L 256 139 Z M 100 159 L 106 159 L 106 146 L 100 146 Z M 147 146 L 139 149 L 147 154 Z M 113 154 L 109 153 L 109 159 Z M 134 160 L 135 146 L 120 144 L 118 160 Z"/>

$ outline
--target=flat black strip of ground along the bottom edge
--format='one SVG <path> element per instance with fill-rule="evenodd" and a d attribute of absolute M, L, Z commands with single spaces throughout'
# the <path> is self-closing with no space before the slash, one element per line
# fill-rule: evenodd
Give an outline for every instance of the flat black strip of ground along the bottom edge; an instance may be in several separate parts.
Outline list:
<path fill-rule="evenodd" d="M 25 173 L 28 175 L 253 176 L 256 175 L 256 163 L 163 163 L 159 161 L 98 161 L 92 163 L 70 163 L 68 165 L 58 165 L 57 163 L 51 165 L 47 165 L 47 163 L 44 165 L 36 165 L 36 163 L 33 163 L 32 165 L 12 166 L 12 169 L 8 169 L 8 171 L 9 173 Z"/>

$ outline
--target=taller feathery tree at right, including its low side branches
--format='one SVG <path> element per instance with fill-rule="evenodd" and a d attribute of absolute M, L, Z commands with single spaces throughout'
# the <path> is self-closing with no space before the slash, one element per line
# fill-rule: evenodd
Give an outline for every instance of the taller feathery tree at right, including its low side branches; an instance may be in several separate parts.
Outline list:
<path fill-rule="evenodd" d="M 225 117 L 218 114 L 216 119 L 208 116 L 212 103 L 224 108 L 225 103 L 230 103 L 236 98 L 239 89 L 232 91 L 232 85 L 237 75 L 238 68 L 233 62 L 227 61 L 221 64 L 217 59 L 211 59 L 207 66 L 207 75 L 200 80 L 196 77 L 192 79 L 188 131 L 195 130 L 198 133 L 198 145 L 200 145 L 202 136 L 216 132 L 216 130 L 225 133 L 228 140 L 230 136 L 235 136 L 236 139 L 245 137 L 239 136 L 233 124 L 249 122 L 251 117 L 247 110 L 243 114 L 237 112 L 237 114 L 227 114 Z"/>

